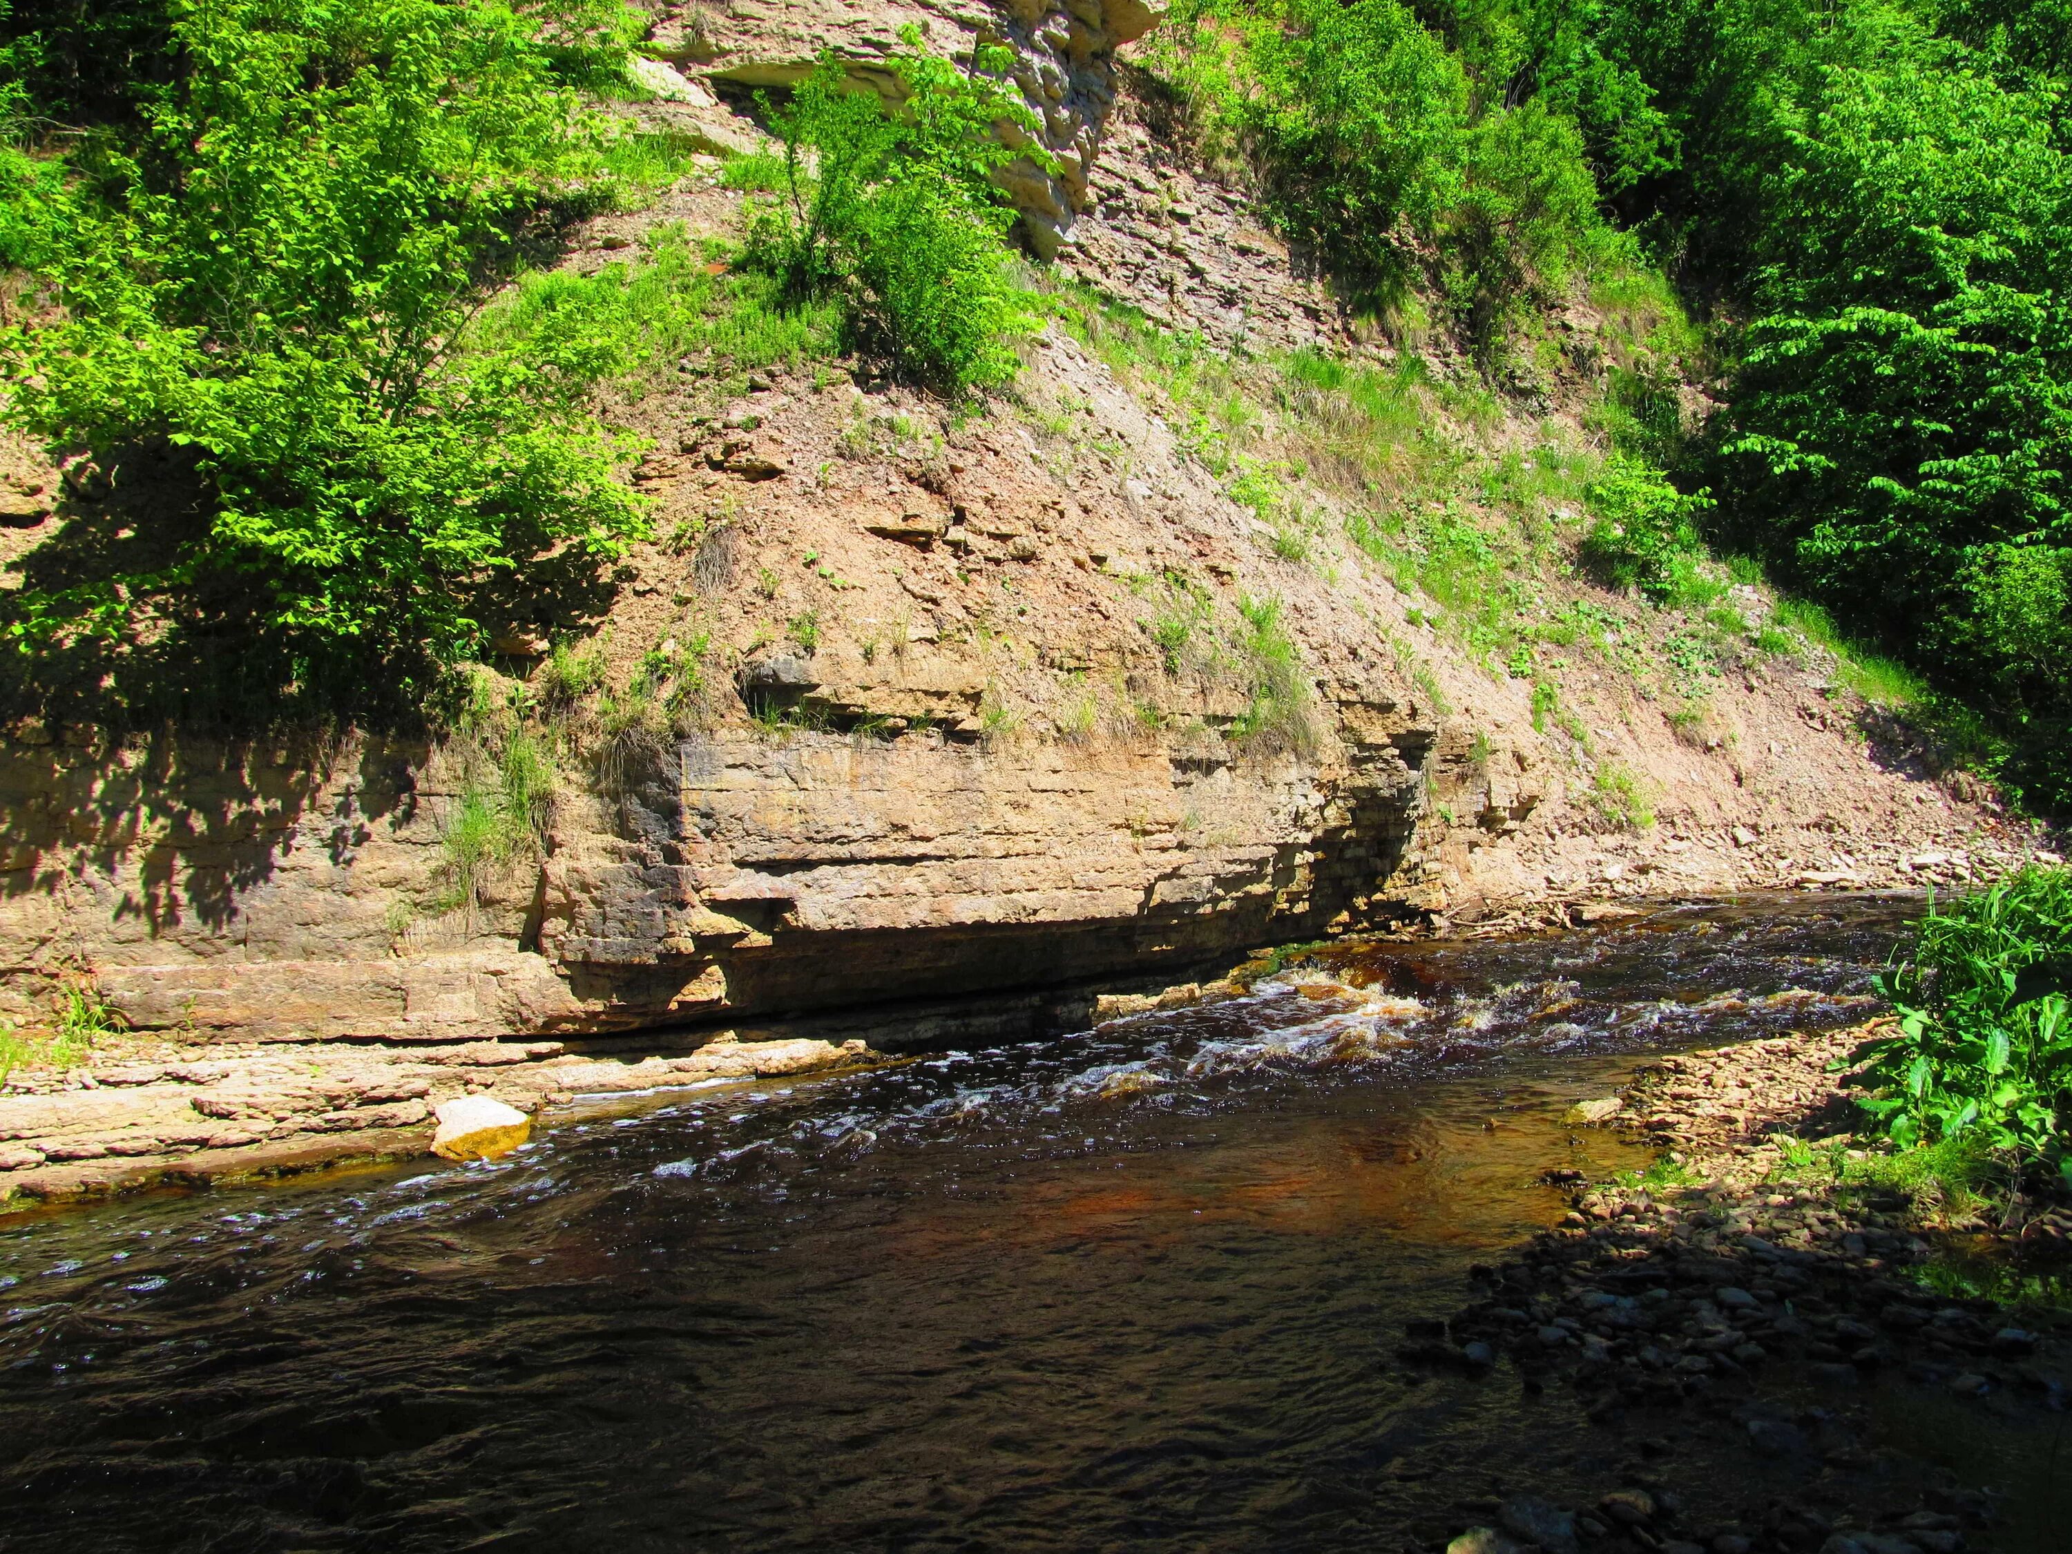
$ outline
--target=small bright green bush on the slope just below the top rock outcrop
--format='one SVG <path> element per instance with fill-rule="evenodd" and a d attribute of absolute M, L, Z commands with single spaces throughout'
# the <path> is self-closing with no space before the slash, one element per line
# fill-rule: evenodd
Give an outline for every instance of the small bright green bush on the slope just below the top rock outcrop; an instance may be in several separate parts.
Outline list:
<path fill-rule="evenodd" d="M 1013 344 L 1034 327 L 1005 242 L 1013 211 L 990 172 L 1017 153 L 995 124 L 1036 131 L 1019 95 L 918 52 L 891 66 L 908 97 L 891 110 L 850 91 L 825 54 L 789 106 L 765 102 L 783 139 L 781 178 L 758 209 L 748 263 L 781 280 L 787 300 L 839 298 L 852 344 L 945 392 L 1005 383 Z M 976 70 L 1005 50 L 978 50 Z M 1032 151 L 1042 155 L 1040 151 Z"/>

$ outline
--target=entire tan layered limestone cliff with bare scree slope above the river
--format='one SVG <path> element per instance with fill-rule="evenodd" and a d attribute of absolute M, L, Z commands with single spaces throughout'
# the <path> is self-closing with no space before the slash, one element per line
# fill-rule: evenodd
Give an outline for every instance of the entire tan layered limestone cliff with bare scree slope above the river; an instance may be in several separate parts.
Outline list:
<path fill-rule="evenodd" d="M 1015 50 L 1059 166 L 1030 164 L 1015 193 L 1038 249 L 1071 238 L 1055 274 L 1247 361 L 1409 350 L 1361 338 L 1245 193 L 1154 131 L 1113 60 L 1154 21 L 1140 0 L 659 12 L 686 87 L 649 112 L 748 145 L 754 122 L 707 89 L 781 85 L 823 46 L 889 83 L 872 60 L 910 21 L 953 52 Z M 715 172 L 595 224 L 570 263 L 611 263 L 663 222 L 738 234 Z M 1587 309 L 1562 327 L 1571 367 L 1510 419 L 1426 396 L 1430 445 L 1463 460 L 1585 445 L 1575 406 L 1618 340 Z M 1278 392 L 1231 414 L 1293 425 L 1301 408 Z M 137 1086 L 135 1119 L 54 1121 L 75 1080 L 17 1075 L 37 1092 L 21 1104 L 44 1111 L 0 1117 L 0 1173 L 408 1127 L 454 1075 L 506 1063 L 530 1065 L 499 1080 L 526 1104 L 686 1082 L 680 1057 L 634 1077 L 549 1071 L 588 1061 L 555 1042 L 615 1032 L 678 1032 L 671 1051 L 688 1051 L 876 1009 L 872 1044 L 947 1040 L 990 1015 L 959 1003 L 945 1024 L 945 1001 L 990 995 L 1003 1013 L 984 1034 L 1011 1036 L 1090 1017 L 1051 990 L 1179 982 L 1268 943 L 1956 881 L 2031 845 L 1894 748 L 1817 653 L 1722 649 L 1697 717 L 1662 678 L 1697 628 L 1554 570 L 1519 607 L 1583 628 L 1531 675 L 1506 671 L 1434 630 L 1432 601 L 1345 539 L 1328 489 L 1303 489 L 1299 535 L 1266 522 L 1189 414 L 1063 323 L 982 416 L 825 365 L 684 363 L 620 406 L 655 448 L 636 479 L 657 539 L 603 611 L 541 601 L 510 622 L 491 673 L 537 690 L 562 640 L 588 644 L 607 688 L 665 663 L 686 694 L 632 746 L 566 709 L 541 845 L 464 879 L 460 744 L 15 725 L 0 1005 L 29 1024 L 70 999 L 106 1005 L 145 1057 L 110 1080 Z M 27 456 L 12 489 L 0 559 L 124 499 Z M 1751 628 L 1769 609 L 1755 588 L 1730 603 Z M 1651 818 L 1614 789 L 1645 796 Z M 197 1048 L 271 1073 L 282 1044 L 334 1038 L 402 1055 L 346 1063 L 263 1125 L 193 1098 L 238 1084 L 195 1069 Z M 798 1057 L 742 1046 L 769 1057 L 711 1071 Z M 839 1044 L 808 1057 L 847 1061 Z"/>

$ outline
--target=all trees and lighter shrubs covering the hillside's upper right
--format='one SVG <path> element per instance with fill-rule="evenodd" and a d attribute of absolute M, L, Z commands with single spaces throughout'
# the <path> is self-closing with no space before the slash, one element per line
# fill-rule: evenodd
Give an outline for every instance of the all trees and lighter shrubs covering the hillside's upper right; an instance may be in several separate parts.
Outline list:
<path fill-rule="evenodd" d="M 1705 607 L 1701 528 L 1761 557 L 1836 613 L 1844 684 L 2049 808 L 2072 804 L 2064 21 L 2055 0 L 1185 0 L 1148 58 L 1399 340 L 1436 298 L 1492 381 L 1529 381 L 1550 305 L 1587 290 L 1649 342 L 1604 363 L 1616 460 L 1585 566 Z M 1697 371 L 1724 408 L 1693 441 Z M 1790 628 L 1757 646 L 1792 651 Z"/>

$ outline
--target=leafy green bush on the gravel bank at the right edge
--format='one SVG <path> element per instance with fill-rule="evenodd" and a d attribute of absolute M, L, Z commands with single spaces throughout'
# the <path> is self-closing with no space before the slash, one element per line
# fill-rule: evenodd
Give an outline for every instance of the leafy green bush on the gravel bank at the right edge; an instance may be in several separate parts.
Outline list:
<path fill-rule="evenodd" d="M 1900 1034 L 1869 1051 L 1861 1104 L 1892 1142 L 1975 1140 L 2072 1185 L 2072 870 L 1931 901 L 1881 990 Z"/>

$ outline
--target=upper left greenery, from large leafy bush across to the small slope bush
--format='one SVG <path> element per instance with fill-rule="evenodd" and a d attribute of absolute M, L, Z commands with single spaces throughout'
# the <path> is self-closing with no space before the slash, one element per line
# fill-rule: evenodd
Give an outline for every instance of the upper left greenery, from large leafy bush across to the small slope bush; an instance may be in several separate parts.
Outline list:
<path fill-rule="evenodd" d="M 557 269 L 690 168 L 609 106 L 638 27 L 620 0 L 0 0 L 0 387 L 102 503 L 6 593 L 0 700 L 437 723 L 501 622 L 646 535 L 615 398 L 845 348 L 953 394 L 1013 375 L 988 172 L 1028 110 L 984 50 L 899 56 L 897 114 L 823 66 L 773 110 L 785 155 L 731 178 L 775 195 L 746 253 L 659 228 Z"/>

